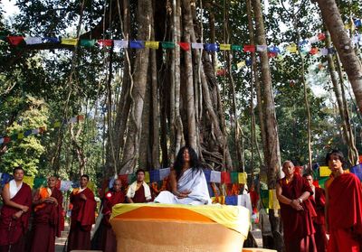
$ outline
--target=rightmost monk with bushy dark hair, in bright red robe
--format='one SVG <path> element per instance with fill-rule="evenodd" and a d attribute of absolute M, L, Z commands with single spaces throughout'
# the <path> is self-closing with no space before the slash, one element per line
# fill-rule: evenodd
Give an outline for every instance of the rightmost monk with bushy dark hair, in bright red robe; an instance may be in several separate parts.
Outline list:
<path fill-rule="evenodd" d="M 332 178 L 326 182 L 328 251 L 362 250 L 362 186 L 357 176 L 345 173 L 344 157 L 337 150 L 326 156 Z"/>

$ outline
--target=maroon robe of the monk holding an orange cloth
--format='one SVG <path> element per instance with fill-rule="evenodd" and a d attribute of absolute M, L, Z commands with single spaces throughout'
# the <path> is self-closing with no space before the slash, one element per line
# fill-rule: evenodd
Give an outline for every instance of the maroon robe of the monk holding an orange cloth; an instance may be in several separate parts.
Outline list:
<path fill-rule="evenodd" d="M 55 236 L 62 236 L 62 191 L 53 188 L 51 197 L 58 201 L 43 203 L 34 210 L 31 252 L 55 251 Z"/>

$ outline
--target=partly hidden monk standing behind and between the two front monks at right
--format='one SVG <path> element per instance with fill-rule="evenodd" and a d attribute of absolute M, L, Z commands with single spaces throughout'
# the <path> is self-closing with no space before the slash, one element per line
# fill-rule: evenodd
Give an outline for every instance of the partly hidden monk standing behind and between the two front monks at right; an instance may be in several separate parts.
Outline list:
<path fill-rule="evenodd" d="M 314 186 L 313 176 L 311 174 L 304 174 L 303 177 L 310 183 L 310 188 L 314 192 L 314 194 L 310 196 L 310 201 L 317 213 L 317 216 L 313 218 L 314 229 L 316 229 L 314 238 L 316 240 L 317 250 L 324 252 L 327 251 L 328 245 L 324 218 L 324 207 L 326 205 L 325 191 L 320 187 Z"/>

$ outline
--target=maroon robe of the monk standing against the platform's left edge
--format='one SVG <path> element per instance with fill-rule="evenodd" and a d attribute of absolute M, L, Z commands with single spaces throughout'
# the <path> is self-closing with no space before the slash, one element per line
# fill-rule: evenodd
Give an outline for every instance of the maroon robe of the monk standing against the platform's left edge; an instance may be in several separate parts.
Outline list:
<path fill-rule="evenodd" d="M 104 252 L 116 252 L 117 251 L 117 240 L 110 226 L 110 213 L 112 207 L 119 203 L 124 203 L 125 194 L 123 191 L 109 191 L 106 193 L 106 197 L 103 203 L 103 219 L 101 220 L 102 226 L 102 238 L 100 240 L 100 249 Z"/>

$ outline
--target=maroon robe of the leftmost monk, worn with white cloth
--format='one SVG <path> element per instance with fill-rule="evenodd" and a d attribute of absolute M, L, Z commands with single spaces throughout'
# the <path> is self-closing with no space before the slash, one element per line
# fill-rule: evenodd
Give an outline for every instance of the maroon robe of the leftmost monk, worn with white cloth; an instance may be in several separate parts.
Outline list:
<path fill-rule="evenodd" d="M 22 214 L 20 219 L 13 219 L 14 213 L 19 209 L 4 204 L 0 216 L 0 251 L 23 252 L 25 251 L 24 235 L 28 229 L 28 222 L 32 206 L 32 190 L 23 182 L 22 188 L 16 193 L 13 199 L 15 203 L 28 206 L 29 210 Z"/>

